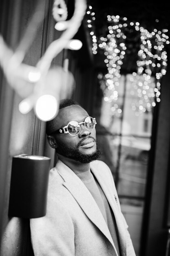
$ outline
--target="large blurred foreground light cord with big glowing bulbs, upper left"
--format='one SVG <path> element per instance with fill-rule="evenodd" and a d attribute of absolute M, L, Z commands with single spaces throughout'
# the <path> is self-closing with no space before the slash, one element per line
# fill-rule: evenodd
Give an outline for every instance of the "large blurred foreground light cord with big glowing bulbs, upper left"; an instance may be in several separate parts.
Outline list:
<path fill-rule="evenodd" d="M 73 16 L 66 20 L 65 1 L 54 0 L 53 18 L 57 22 L 55 28 L 65 29 L 65 31 L 46 48 L 36 67 L 24 64 L 22 61 L 31 43 L 33 43 L 38 26 L 44 19 L 44 4 L 41 1 L 39 1 L 35 14 L 26 27 L 24 37 L 15 52 L 7 46 L 3 37 L 0 36 L 0 65 L 8 84 L 23 98 L 19 104 L 21 113 L 26 114 L 34 108 L 38 118 L 48 121 L 57 115 L 57 102 L 60 97 L 70 97 L 74 79 L 66 67 L 66 60 L 64 60 L 64 68 L 52 68 L 51 62 L 64 48 L 72 47 L 71 49 L 73 49 L 73 40 L 71 39 L 82 23 L 86 8 L 86 0 L 75 0 Z M 36 18 L 37 13 L 40 16 L 38 19 Z M 76 43 L 79 43 L 79 46 L 76 45 L 75 48 L 74 45 L 74 49 L 79 49 L 82 43 L 80 41 L 76 41 Z"/>

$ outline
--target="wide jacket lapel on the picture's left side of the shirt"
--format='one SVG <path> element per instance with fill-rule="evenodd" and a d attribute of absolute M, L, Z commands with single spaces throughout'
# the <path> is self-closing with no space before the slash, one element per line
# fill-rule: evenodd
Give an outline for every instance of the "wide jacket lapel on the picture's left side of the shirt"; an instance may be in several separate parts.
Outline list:
<path fill-rule="evenodd" d="M 113 239 L 110 235 L 104 217 L 102 216 L 99 207 L 97 206 L 93 196 L 88 191 L 84 183 L 68 166 L 66 166 L 60 160 L 58 160 L 55 168 L 64 180 L 63 185 L 73 195 L 73 197 L 75 198 L 79 206 L 82 208 L 86 216 L 93 222 L 93 224 L 95 224 L 100 229 L 100 231 L 102 231 L 102 233 L 106 236 L 106 238 L 108 238 L 108 240 L 115 249 Z"/>

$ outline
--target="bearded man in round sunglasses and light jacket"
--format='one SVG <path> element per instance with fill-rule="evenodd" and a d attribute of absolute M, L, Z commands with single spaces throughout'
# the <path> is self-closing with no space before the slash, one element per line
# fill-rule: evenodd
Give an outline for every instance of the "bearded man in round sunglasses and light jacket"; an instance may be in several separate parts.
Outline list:
<path fill-rule="evenodd" d="M 97 160 L 95 118 L 64 99 L 46 133 L 58 161 L 47 213 L 30 220 L 35 256 L 135 256 L 108 166 Z"/>

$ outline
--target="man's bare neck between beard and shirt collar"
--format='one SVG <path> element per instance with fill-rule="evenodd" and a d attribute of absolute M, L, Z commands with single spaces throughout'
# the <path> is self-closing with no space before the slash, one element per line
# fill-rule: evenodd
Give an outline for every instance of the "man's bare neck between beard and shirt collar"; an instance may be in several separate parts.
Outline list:
<path fill-rule="evenodd" d="M 90 163 L 84 164 L 64 155 L 60 155 L 57 153 L 58 158 L 66 164 L 77 176 L 87 174 L 90 172 Z"/>

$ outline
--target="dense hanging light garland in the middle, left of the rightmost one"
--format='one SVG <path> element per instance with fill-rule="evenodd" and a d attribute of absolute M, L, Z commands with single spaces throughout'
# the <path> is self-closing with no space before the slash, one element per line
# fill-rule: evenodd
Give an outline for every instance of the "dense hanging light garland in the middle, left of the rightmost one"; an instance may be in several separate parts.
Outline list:
<path fill-rule="evenodd" d="M 121 19 L 118 15 L 108 15 L 107 20 L 112 24 L 108 26 L 109 33 L 107 34 L 107 37 L 100 37 L 99 47 L 104 49 L 104 55 L 106 56 L 104 62 L 106 63 L 108 73 L 105 74 L 102 79 L 99 78 L 101 77 L 101 74 L 98 78 L 101 88 L 104 88 L 102 80 L 104 80 L 106 84 L 105 89 L 103 90 L 104 101 L 114 102 L 111 110 L 113 115 L 116 114 L 119 117 L 122 110 L 117 103 L 118 86 L 121 77 L 121 65 L 123 64 L 123 59 L 126 54 L 126 35 L 124 34 L 124 28 L 127 27 L 127 18 L 124 17 Z"/>

